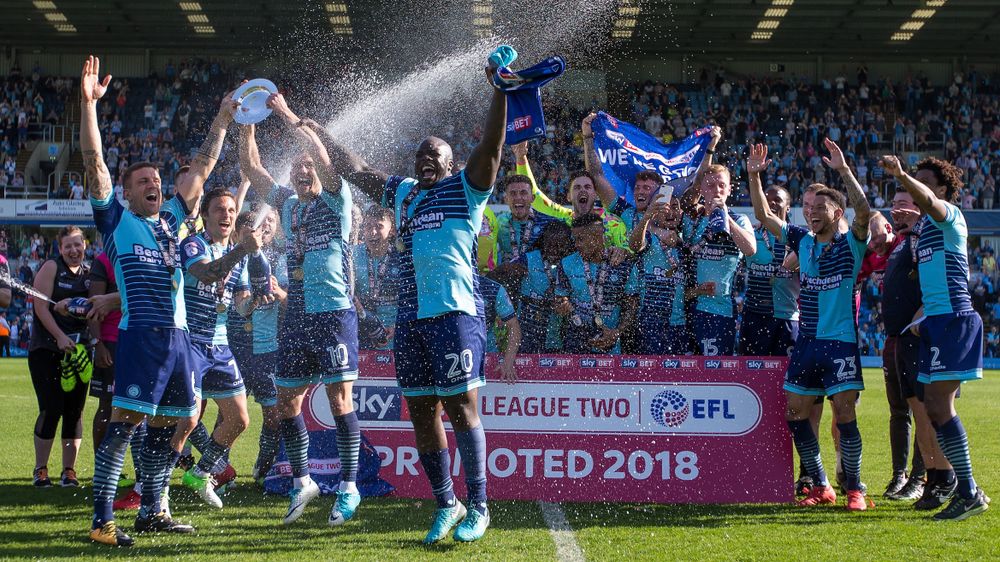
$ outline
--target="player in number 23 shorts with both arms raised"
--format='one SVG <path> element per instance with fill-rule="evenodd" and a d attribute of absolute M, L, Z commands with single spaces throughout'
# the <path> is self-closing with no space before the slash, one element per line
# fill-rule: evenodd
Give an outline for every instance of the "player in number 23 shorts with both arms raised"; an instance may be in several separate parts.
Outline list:
<path fill-rule="evenodd" d="M 847 509 L 862 511 L 868 502 L 861 491 L 861 433 L 855 403 L 864 389 L 854 313 L 854 279 L 868 245 L 871 210 L 861 186 L 851 173 L 840 148 L 826 139 L 830 157 L 823 161 L 847 185 L 855 218 L 848 234 L 839 232 L 844 215 L 840 192 L 819 189 L 810 212 L 810 229 L 789 225 L 771 212 L 761 187 L 760 171 L 767 168 L 767 146 L 751 147 L 747 170 L 750 197 L 761 224 L 799 256 L 801 323 L 792 351 L 785 391 L 785 412 L 799 456 L 813 479 L 801 506 L 834 503 L 836 493 L 823 470 L 816 433 L 809 424 L 816 396 L 831 396 L 840 430 L 840 451 L 847 478 Z"/>

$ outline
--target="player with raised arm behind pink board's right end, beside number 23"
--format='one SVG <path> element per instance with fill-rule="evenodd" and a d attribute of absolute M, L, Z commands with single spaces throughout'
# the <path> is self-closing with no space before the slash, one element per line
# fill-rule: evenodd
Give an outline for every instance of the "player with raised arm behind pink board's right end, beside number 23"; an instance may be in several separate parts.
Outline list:
<path fill-rule="evenodd" d="M 760 178 L 764 170 L 747 170 Z M 773 186 L 764 192 L 771 215 L 788 222 L 792 198 Z M 761 220 L 758 215 L 757 220 Z M 757 251 L 747 258 L 747 291 L 740 323 L 740 355 L 790 355 L 799 335 L 799 278 L 784 267 L 786 246 L 761 225 Z"/>

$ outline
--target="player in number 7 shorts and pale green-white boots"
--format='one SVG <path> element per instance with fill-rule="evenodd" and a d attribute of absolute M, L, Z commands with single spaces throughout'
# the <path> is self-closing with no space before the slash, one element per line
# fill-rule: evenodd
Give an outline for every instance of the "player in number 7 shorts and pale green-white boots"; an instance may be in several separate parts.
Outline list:
<path fill-rule="evenodd" d="M 233 443 L 250 424 L 246 388 L 229 348 L 230 307 L 241 315 L 253 308 L 247 276 L 247 258 L 261 246 L 259 232 L 244 228 L 240 242 L 232 243 L 236 228 L 236 198 L 227 189 L 216 189 L 202 201 L 205 231 L 181 243 L 187 271 L 184 301 L 191 329 L 192 356 L 196 364 L 196 387 L 206 399 L 215 400 L 222 421 L 208 434 L 198 422 L 192 442 L 202 452 L 201 460 L 184 474 L 183 483 L 206 503 L 221 508 L 212 473 L 216 464 L 229 455 Z M 254 256 L 254 259 L 263 259 Z M 272 296 L 264 297 L 267 302 Z M 224 465 L 223 465 L 224 466 Z"/>

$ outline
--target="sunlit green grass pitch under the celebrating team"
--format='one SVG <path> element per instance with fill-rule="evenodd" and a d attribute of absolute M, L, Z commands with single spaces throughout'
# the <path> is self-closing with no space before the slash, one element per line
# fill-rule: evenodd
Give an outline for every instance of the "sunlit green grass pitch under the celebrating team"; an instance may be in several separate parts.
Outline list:
<path fill-rule="evenodd" d="M 970 433 L 972 458 L 980 486 L 1000 497 L 1000 378 L 987 373 L 966 385 L 959 413 Z M 868 369 L 869 390 L 859 409 L 864 437 L 862 479 L 877 504 L 865 513 L 835 508 L 797 509 L 787 505 L 637 505 L 563 504 L 584 556 L 590 560 L 996 560 L 1000 558 L 1000 504 L 960 523 L 937 523 L 906 503 L 881 499 L 890 477 L 888 407 L 882 373 Z M 201 505 L 179 486 L 174 473 L 175 516 L 194 524 L 188 536 L 139 536 L 132 549 L 90 544 L 90 477 L 93 454 L 90 419 L 96 401 L 84 413 L 84 441 L 77 467 L 83 487 L 36 490 L 31 486 L 32 427 L 37 407 L 23 359 L 0 360 L 0 420 L 6 437 L 0 447 L 0 559 L 207 560 L 552 560 L 556 547 L 538 506 L 530 502 L 493 502 L 493 526 L 471 545 L 450 539 L 425 547 L 433 502 L 372 499 L 358 517 L 331 529 L 329 498 L 316 500 L 295 525 L 283 527 L 284 498 L 264 496 L 248 477 L 256 454 L 260 409 L 251 403 L 251 428 L 237 442 L 232 460 L 239 486 L 224 497 L 221 511 Z M 209 407 L 209 420 L 214 417 Z M 821 444 L 833 464 L 829 411 Z M 209 422 L 210 424 L 211 422 Z M 49 466 L 58 476 L 59 457 Z M 131 473 L 131 460 L 126 464 Z M 747 486 L 753 482 L 747 481 Z M 789 486 L 792 483 L 789 482 Z M 131 526 L 134 512 L 120 513 Z"/>

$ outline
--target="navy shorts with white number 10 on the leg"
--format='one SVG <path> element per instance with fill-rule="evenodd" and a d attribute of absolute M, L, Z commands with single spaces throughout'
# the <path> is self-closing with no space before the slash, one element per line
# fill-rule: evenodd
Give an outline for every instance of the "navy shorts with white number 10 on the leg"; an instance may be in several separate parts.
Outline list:
<path fill-rule="evenodd" d="M 353 308 L 288 315 L 278 336 L 274 383 L 286 388 L 358 378 L 358 315 Z"/>

